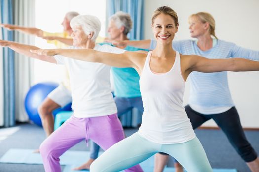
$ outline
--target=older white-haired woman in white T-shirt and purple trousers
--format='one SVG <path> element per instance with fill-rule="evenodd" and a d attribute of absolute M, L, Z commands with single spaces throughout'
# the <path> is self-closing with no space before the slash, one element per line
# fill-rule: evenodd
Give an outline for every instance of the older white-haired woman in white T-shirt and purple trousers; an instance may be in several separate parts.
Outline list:
<path fill-rule="evenodd" d="M 80 15 L 72 19 L 74 47 L 70 49 L 94 49 L 102 52 L 122 53 L 124 50 L 108 45 L 95 45 L 101 28 L 98 18 Z M 73 116 L 54 131 L 40 145 L 46 172 L 61 172 L 59 157 L 82 140 L 92 139 L 104 150 L 124 139 L 122 125 L 111 94 L 110 66 L 74 60 L 64 56 L 45 56 L 31 53 L 35 46 L 0 40 L 0 46 L 43 61 L 66 65 L 70 75 Z M 101 126 L 101 127 L 100 127 Z M 139 165 L 127 172 L 143 172 Z"/>

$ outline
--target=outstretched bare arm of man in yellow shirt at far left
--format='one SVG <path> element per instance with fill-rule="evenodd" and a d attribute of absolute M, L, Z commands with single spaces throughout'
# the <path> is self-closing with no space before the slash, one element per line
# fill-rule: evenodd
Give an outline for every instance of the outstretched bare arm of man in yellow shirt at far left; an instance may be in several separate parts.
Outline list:
<path fill-rule="evenodd" d="M 17 31 L 21 31 L 27 34 L 32 34 L 32 35 L 36 35 L 38 37 L 42 37 L 43 36 L 43 30 L 38 29 L 38 28 L 31 28 L 31 27 L 21 27 L 18 25 L 11 25 L 11 24 L 1 24 L 0 25 L 3 28 L 6 28 L 8 30 L 17 30 Z"/>

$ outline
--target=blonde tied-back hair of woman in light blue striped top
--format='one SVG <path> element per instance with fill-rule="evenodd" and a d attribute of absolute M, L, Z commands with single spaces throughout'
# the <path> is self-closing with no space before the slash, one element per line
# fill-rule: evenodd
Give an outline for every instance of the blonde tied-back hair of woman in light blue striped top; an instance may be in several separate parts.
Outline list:
<path fill-rule="evenodd" d="M 199 13 L 196 13 L 196 14 L 192 14 L 190 15 L 189 17 L 189 21 L 192 19 L 192 18 L 195 18 L 199 21 L 201 21 L 202 23 L 206 23 L 208 22 L 210 27 L 209 27 L 209 32 L 212 36 L 214 36 L 216 39 L 217 36 L 215 35 L 215 20 L 214 18 L 212 17 L 212 15 L 210 13 L 207 13 L 207 12 L 199 12 Z"/>

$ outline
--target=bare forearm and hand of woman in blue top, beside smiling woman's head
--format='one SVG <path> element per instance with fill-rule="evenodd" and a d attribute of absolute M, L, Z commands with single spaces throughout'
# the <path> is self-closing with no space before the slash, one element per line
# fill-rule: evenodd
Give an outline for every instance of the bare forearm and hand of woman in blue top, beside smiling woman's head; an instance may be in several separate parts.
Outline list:
<path fill-rule="evenodd" d="M 131 47 L 137 47 L 142 49 L 149 49 L 151 40 L 147 39 L 147 40 L 140 40 L 140 41 L 130 41 L 130 40 L 115 41 L 115 40 L 105 39 L 105 42 L 110 42 L 111 44 L 118 47 L 131 46 Z"/>

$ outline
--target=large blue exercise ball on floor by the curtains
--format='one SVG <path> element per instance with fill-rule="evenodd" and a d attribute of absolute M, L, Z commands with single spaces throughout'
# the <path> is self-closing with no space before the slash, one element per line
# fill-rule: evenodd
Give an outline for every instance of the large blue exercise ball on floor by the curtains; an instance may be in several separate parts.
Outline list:
<path fill-rule="evenodd" d="M 56 87 L 58 87 L 58 84 L 53 82 L 38 83 L 29 89 L 25 97 L 24 105 L 29 119 L 38 126 L 42 127 L 41 119 L 38 114 L 38 107 L 42 104 L 47 95 Z M 54 117 L 59 111 L 71 111 L 71 103 L 63 108 L 56 109 L 53 112 Z"/>

